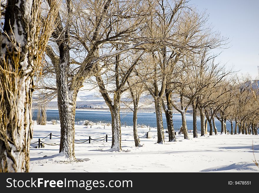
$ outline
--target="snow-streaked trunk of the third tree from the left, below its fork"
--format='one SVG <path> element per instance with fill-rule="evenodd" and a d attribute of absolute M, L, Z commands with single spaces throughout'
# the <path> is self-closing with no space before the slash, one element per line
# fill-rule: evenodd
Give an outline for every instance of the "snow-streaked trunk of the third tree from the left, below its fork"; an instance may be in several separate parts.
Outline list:
<path fill-rule="evenodd" d="M 116 96 L 114 96 L 116 98 Z M 121 124 L 119 100 L 114 100 L 114 105 L 110 108 L 112 115 L 112 151 L 121 151 Z"/>

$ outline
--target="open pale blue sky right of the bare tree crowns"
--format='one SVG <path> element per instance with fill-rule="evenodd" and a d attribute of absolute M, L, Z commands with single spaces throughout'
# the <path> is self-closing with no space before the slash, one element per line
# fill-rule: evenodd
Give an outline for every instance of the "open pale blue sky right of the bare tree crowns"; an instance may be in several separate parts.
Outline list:
<path fill-rule="evenodd" d="M 259 0 L 191 0 L 199 11 L 207 10 L 208 22 L 230 39 L 230 48 L 218 58 L 227 67 L 255 78 L 259 66 Z"/>

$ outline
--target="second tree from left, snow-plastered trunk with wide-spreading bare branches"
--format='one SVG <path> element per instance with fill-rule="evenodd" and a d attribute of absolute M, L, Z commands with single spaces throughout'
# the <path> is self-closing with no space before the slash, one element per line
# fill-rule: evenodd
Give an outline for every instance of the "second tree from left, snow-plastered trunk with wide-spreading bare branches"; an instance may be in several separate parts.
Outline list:
<path fill-rule="evenodd" d="M 140 26 L 147 19 L 150 6 L 152 4 L 147 0 L 82 0 L 73 1 L 73 4 L 67 0 L 59 10 L 57 27 L 52 34 L 53 42 L 46 53 L 56 74 L 61 125 L 59 152 L 70 160 L 75 159 L 77 93 L 87 78 L 97 74 L 97 69 L 102 69 L 97 66 L 102 60 L 149 43 L 147 39 L 131 37 L 142 30 Z M 115 44 L 119 45 L 119 49 L 114 47 Z M 120 150 L 117 140 L 116 148 Z"/>

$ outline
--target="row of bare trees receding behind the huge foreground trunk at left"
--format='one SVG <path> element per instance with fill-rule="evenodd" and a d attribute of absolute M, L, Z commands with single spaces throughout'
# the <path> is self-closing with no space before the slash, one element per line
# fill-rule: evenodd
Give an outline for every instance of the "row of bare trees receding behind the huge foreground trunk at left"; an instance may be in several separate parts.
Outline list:
<path fill-rule="evenodd" d="M 237 118 L 244 125 L 239 114 L 231 119 L 228 113 L 235 103 L 234 93 L 238 92 L 234 72 L 215 63 L 218 55 L 213 53 L 213 49 L 226 47 L 228 39 L 207 25 L 206 13 L 199 13 L 187 3 L 184 0 L 83 0 L 73 4 L 66 1 L 59 10 L 57 27 L 46 49 L 44 76 L 38 82 L 38 89 L 44 95 L 58 98 L 60 152 L 74 160 L 76 98 L 86 81 L 99 89 L 111 112 L 111 151 L 121 151 L 120 103 L 125 95 L 133 103 L 137 147 L 141 146 L 137 110 L 145 93 L 154 99 L 158 143 L 165 142 L 163 110 L 169 141 L 176 141 L 173 108 L 182 115 L 185 139 L 189 139 L 185 114 L 190 107 L 193 137 L 198 137 L 197 110 L 202 136 L 205 119 L 210 125 L 210 135 L 214 118 L 222 123 L 221 133 L 226 132 L 226 120 L 233 123 Z M 240 103 L 243 105 L 243 101 Z M 249 124 L 252 123 L 246 122 L 245 126 Z M 215 127 L 214 131 L 217 133 Z"/>

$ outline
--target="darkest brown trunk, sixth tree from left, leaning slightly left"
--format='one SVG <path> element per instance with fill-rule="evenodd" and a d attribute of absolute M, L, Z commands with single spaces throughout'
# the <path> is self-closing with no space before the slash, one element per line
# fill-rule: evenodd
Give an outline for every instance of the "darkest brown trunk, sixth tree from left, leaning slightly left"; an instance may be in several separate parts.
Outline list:
<path fill-rule="evenodd" d="M 172 106 L 171 93 L 172 92 L 165 89 L 165 96 L 167 101 L 167 109 L 165 108 L 165 117 L 166 117 L 169 141 L 176 141 L 174 124 L 173 124 L 173 106 Z"/>

